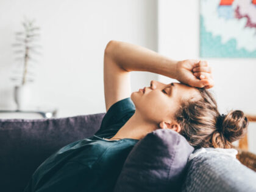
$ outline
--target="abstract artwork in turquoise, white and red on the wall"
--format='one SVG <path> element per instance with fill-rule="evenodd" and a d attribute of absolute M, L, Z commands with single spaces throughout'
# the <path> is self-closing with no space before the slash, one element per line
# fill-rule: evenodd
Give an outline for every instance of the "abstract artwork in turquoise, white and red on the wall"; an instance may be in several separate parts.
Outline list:
<path fill-rule="evenodd" d="M 200 1 L 200 57 L 256 58 L 256 0 Z"/>

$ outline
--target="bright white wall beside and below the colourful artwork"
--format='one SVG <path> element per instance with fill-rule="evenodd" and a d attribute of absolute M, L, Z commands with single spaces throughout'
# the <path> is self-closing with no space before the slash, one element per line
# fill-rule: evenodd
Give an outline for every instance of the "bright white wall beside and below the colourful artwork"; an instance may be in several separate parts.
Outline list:
<path fill-rule="evenodd" d="M 176 60 L 199 57 L 199 0 L 158 1 L 158 52 Z M 219 111 L 241 109 L 256 115 L 256 59 L 207 60 L 213 69 Z M 171 79 L 159 75 L 158 80 Z M 249 148 L 256 153 L 256 126 L 249 126 Z"/>

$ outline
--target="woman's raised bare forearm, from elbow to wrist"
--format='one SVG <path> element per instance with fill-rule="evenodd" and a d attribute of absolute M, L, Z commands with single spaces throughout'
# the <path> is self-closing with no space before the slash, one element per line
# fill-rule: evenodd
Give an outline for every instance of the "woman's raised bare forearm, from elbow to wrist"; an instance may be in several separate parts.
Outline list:
<path fill-rule="evenodd" d="M 110 41 L 105 54 L 127 72 L 148 71 L 166 77 L 175 78 L 176 60 L 157 52 L 121 41 Z"/>

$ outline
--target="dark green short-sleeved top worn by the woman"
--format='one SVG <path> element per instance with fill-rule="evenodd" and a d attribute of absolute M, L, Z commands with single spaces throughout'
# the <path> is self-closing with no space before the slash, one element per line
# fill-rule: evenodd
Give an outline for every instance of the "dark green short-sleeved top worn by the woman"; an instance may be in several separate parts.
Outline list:
<path fill-rule="evenodd" d="M 137 139 L 110 139 L 135 112 L 130 97 L 113 104 L 93 137 L 70 143 L 46 159 L 25 191 L 113 191 Z"/>

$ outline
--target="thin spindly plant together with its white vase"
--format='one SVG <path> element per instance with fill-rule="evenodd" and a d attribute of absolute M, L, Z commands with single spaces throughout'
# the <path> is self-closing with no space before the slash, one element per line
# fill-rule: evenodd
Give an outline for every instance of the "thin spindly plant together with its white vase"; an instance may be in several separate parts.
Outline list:
<path fill-rule="evenodd" d="M 37 49 L 40 47 L 38 44 L 35 44 L 40 35 L 38 33 L 40 28 L 35 26 L 35 20 L 29 20 L 25 17 L 22 25 L 23 31 L 15 33 L 17 43 L 13 44 L 13 47 L 15 47 L 15 60 L 22 66 L 22 70 L 18 71 L 19 73 L 11 78 L 11 80 L 18 82 L 14 89 L 17 110 L 26 109 L 30 103 L 29 82 L 34 81 L 31 67 L 35 63 L 32 55 L 38 54 Z"/>

